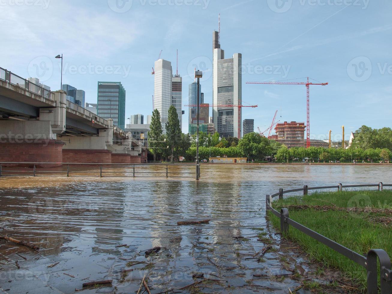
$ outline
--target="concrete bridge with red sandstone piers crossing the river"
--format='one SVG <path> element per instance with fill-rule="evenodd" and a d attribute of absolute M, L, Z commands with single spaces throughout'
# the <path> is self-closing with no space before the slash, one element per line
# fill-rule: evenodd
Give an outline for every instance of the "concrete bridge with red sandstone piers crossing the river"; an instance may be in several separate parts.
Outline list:
<path fill-rule="evenodd" d="M 0 67 L 0 162 L 144 163 L 131 134 Z"/>

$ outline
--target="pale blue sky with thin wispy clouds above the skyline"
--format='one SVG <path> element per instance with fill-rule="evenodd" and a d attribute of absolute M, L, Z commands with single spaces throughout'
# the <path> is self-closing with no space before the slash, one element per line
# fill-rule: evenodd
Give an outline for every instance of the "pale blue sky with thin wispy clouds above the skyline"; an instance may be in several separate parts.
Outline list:
<path fill-rule="evenodd" d="M 221 14 L 225 58 L 242 53 L 243 119 L 264 131 L 277 120 L 306 121 L 311 138 L 346 139 L 362 125 L 392 127 L 392 2 L 389 0 L 0 0 L 0 67 L 60 89 L 63 83 L 96 103 L 97 82 L 122 82 L 125 118 L 152 113 L 155 60 L 183 76 L 183 105 L 194 67 L 212 104 L 212 32 Z M 311 80 L 313 81 L 313 80 Z M 183 132 L 188 132 L 184 107 Z M 210 111 L 212 113 L 212 110 Z M 212 115 L 212 114 L 211 114 Z M 127 120 L 126 120 L 127 122 Z"/>

